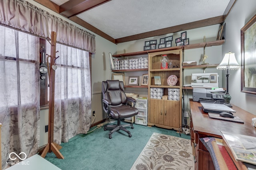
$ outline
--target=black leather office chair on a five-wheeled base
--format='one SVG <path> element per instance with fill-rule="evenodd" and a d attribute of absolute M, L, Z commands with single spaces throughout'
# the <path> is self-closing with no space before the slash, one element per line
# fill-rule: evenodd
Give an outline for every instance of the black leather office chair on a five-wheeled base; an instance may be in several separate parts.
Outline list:
<path fill-rule="evenodd" d="M 124 82 L 119 80 L 107 80 L 102 82 L 102 104 L 103 109 L 106 111 L 107 116 L 117 120 L 117 125 L 106 125 L 104 131 L 107 129 L 112 130 L 108 137 L 112 138 L 112 133 L 115 131 L 123 130 L 128 133 L 129 137 L 132 137 L 130 131 L 124 127 L 131 127 L 134 129 L 132 123 L 121 125 L 121 119 L 132 117 L 138 114 L 138 109 L 134 106 L 136 100 L 131 97 L 126 97 L 124 93 Z M 132 102 L 133 107 L 128 105 L 127 102 Z"/>

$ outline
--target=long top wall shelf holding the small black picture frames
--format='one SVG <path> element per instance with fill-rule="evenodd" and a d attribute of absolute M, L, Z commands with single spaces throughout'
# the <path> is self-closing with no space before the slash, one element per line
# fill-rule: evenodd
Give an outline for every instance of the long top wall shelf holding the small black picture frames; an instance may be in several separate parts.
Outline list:
<path fill-rule="evenodd" d="M 113 55 L 113 57 L 119 58 L 119 57 L 129 57 L 129 56 L 135 56 L 135 55 L 145 55 L 148 53 L 154 53 L 154 52 L 161 52 L 161 51 L 168 51 L 168 50 L 177 50 L 177 49 L 196 49 L 196 48 L 203 48 L 203 47 L 211 47 L 216 45 L 222 45 L 225 42 L 224 39 L 218 40 L 218 41 L 209 41 L 204 43 L 196 43 L 196 44 L 190 44 L 190 45 L 182 45 L 182 46 L 176 46 L 176 47 L 167 47 L 162 49 L 154 49 L 154 50 L 147 50 L 147 51 L 138 51 L 133 53 L 125 53 L 125 54 L 117 54 Z"/>

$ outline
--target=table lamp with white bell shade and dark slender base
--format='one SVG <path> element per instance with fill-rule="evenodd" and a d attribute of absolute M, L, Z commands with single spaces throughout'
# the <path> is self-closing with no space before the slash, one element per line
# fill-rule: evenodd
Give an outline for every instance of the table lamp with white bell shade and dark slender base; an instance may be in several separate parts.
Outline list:
<path fill-rule="evenodd" d="M 217 66 L 219 70 L 227 70 L 227 89 L 226 94 L 224 95 L 225 105 L 228 107 L 232 107 L 230 104 L 231 96 L 228 93 L 228 77 L 229 77 L 229 70 L 238 70 L 240 65 L 236 61 L 235 53 L 228 52 L 225 54 L 224 58 L 222 59 L 221 63 Z"/>

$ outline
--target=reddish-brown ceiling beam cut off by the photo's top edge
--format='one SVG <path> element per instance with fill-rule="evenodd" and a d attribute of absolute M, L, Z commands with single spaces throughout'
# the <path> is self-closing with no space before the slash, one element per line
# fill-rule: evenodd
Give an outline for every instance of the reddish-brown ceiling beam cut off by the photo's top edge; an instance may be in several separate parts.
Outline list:
<path fill-rule="evenodd" d="M 110 0 L 69 0 L 60 5 L 60 14 L 70 18 L 109 1 Z"/>

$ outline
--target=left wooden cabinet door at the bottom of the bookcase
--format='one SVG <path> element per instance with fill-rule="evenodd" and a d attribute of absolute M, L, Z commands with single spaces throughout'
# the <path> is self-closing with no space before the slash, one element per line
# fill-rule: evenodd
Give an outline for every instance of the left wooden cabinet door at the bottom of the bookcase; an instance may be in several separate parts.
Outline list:
<path fill-rule="evenodd" d="M 159 99 L 150 99 L 150 123 L 162 125 L 164 123 L 164 102 Z"/>

